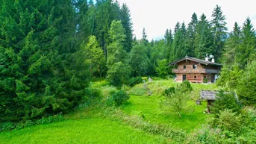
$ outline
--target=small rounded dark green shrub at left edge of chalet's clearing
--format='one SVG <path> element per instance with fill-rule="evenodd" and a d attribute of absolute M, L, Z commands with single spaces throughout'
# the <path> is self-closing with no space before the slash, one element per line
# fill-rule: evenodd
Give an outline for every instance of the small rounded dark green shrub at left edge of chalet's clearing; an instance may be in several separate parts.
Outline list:
<path fill-rule="evenodd" d="M 119 107 L 120 105 L 124 104 L 130 98 L 128 93 L 126 93 L 124 90 L 118 90 L 116 92 L 111 93 L 111 97 L 113 98 L 116 107 Z"/>

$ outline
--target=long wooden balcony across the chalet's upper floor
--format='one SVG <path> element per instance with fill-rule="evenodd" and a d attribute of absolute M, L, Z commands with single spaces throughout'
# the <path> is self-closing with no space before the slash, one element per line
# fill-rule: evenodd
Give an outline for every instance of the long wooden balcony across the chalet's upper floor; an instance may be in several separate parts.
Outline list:
<path fill-rule="evenodd" d="M 219 70 L 216 69 L 172 69 L 173 73 L 214 73 L 219 74 Z"/>

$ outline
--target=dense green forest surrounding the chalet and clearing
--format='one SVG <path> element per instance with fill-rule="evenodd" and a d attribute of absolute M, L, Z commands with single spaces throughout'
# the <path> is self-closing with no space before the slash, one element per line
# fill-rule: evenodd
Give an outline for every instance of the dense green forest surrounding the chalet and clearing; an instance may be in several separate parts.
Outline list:
<path fill-rule="evenodd" d="M 132 86 L 141 76 L 172 75 L 168 63 L 186 55 L 213 54 L 224 64 L 218 84 L 256 104 L 255 30 L 245 18 L 228 33 L 218 5 L 210 18 L 193 13 L 149 42 L 145 29 L 134 37 L 129 8 L 118 1 L 0 3 L 0 122 L 68 113 L 93 97 L 95 78 Z"/>

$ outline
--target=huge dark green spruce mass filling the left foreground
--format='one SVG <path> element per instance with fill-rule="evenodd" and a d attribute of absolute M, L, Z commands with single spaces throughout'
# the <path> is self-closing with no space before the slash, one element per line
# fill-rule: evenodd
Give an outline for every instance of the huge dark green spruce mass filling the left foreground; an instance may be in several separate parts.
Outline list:
<path fill-rule="evenodd" d="M 71 1 L 3 0 L 0 13 L 0 121 L 66 113 L 81 102 L 88 70 L 72 63 L 79 59 Z"/>

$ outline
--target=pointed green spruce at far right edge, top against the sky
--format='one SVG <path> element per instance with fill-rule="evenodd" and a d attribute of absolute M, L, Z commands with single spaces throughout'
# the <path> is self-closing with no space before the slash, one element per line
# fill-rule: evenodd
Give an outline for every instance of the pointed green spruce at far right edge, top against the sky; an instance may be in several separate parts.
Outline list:
<path fill-rule="evenodd" d="M 256 38 L 255 30 L 252 26 L 251 20 L 246 19 L 243 24 L 241 43 L 237 48 L 236 60 L 240 68 L 245 68 L 249 61 L 255 59 L 256 56 Z"/>

